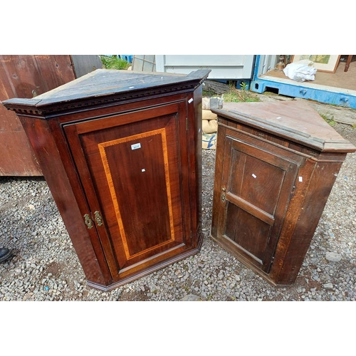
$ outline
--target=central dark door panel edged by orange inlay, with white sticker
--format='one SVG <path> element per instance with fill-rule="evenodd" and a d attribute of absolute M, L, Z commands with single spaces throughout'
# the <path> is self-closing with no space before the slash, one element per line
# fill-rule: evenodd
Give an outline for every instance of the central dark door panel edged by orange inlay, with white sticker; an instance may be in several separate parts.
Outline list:
<path fill-rule="evenodd" d="M 174 241 L 166 130 L 98 147 L 127 258 Z"/>

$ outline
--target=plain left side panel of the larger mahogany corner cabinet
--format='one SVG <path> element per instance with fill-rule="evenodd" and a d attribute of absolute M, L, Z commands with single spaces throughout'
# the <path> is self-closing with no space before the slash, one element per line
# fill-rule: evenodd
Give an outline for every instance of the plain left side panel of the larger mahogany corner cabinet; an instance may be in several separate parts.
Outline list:
<path fill-rule="evenodd" d="M 78 209 L 75 194 L 70 185 L 66 169 L 63 167 L 56 142 L 51 135 L 48 122 L 28 117 L 20 117 L 20 120 L 36 154 L 48 187 L 51 189 L 53 199 L 56 201 L 86 278 L 90 282 L 107 285 L 108 273 L 104 276 L 100 271 L 98 259 L 83 223 L 83 216 Z"/>

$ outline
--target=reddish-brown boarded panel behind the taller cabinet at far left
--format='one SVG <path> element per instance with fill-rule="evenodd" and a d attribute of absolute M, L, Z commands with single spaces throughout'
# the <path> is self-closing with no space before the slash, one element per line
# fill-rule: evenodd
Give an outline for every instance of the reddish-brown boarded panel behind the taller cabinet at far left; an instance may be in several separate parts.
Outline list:
<path fill-rule="evenodd" d="M 74 80 L 70 56 L 0 56 L 0 101 L 33 98 Z M 14 112 L 0 108 L 0 175 L 41 176 L 31 145 Z"/>

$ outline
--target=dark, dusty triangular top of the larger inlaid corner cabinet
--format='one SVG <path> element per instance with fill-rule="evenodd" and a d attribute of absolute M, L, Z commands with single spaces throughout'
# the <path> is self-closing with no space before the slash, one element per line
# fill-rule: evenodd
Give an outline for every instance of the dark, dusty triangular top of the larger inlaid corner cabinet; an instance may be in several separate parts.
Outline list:
<path fill-rule="evenodd" d="M 196 70 L 188 75 L 169 73 L 146 73 L 132 70 L 97 69 L 87 75 L 59 86 L 31 99 L 9 99 L 5 107 L 28 105 L 43 108 L 46 105 L 70 103 L 78 100 L 102 98 L 110 95 L 135 95 L 142 90 L 169 93 L 196 88 L 209 75 L 210 70 Z M 138 95 L 138 94 L 137 94 Z"/>

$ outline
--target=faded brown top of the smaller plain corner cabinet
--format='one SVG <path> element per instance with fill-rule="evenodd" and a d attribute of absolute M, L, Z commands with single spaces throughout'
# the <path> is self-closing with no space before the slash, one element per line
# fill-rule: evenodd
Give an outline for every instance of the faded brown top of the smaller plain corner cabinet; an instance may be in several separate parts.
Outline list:
<path fill-rule="evenodd" d="M 308 103 L 302 101 L 224 103 L 224 108 L 213 108 L 211 111 L 320 151 L 356 151 L 354 145 L 339 135 Z"/>

